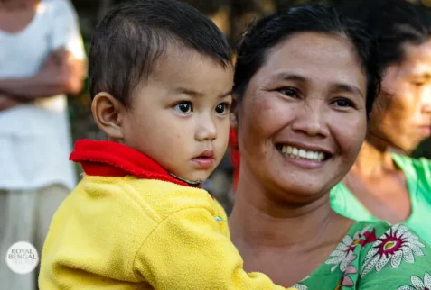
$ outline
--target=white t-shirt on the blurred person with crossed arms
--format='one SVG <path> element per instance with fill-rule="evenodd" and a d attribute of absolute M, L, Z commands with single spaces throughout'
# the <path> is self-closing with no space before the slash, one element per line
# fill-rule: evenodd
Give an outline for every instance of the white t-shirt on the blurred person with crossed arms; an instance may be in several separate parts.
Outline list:
<path fill-rule="evenodd" d="M 78 17 L 69 0 L 42 0 L 31 23 L 17 33 L 0 30 L 0 78 L 31 77 L 65 47 L 85 59 Z M 76 185 L 65 95 L 0 112 L 0 190 Z"/>

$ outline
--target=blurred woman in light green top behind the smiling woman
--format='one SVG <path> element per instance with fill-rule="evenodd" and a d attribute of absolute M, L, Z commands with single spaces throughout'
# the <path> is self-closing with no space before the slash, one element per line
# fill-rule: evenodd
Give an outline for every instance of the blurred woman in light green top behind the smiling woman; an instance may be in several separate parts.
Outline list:
<path fill-rule="evenodd" d="M 367 24 L 384 74 L 367 139 L 331 205 L 357 221 L 405 222 L 431 245 L 431 161 L 406 156 L 431 135 L 431 16 L 404 0 L 346 1 L 340 11 Z"/>

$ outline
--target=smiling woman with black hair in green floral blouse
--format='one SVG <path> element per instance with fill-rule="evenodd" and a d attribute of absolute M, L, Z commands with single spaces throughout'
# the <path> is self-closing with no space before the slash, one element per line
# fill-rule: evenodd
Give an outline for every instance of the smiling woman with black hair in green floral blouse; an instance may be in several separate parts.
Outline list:
<path fill-rule="evenodd" d="M 431 263 L 430 249 L 408 227 L 353 222 L 330 207 L 330 190 L 361 150 L 379 92 L 370 39 L 332 8 L 305 6 L 267 16 L 239 47 L 241 159 L 231 238 L 246 269 L 278 284 L 407 289 Z"/>

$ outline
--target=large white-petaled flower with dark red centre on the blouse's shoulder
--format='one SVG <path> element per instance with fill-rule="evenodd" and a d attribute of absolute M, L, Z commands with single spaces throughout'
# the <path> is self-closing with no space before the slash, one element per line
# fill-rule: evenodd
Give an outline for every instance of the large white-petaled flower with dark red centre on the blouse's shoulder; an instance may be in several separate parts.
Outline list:
<path fill-rule="evenodd" d="M 374 267 L 379 272 L 389 261 L 393 268 L 398 268 L 402 259 L 408 263 L 414 263 L 415 255 L 424 256 L 420 248 L 424 248 L 425 245 L 418 239 L 405 225 L 392 226 L 368 252 L 361 268 L 361 277 L 370 273 Z"/>

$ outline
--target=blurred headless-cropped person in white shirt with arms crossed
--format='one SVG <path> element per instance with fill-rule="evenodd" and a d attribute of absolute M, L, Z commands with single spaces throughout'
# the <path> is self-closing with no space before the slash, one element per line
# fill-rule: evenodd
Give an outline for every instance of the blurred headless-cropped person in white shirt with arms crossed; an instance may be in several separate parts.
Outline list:
<path fill-rule="evenodd" d="M 86 55 L 69 0 L 0 1 L 0 281 L 35 289 L 34 271 L 5 266 L 17 241 L 39 252 L 76 184 L 66 95 L 80 92 Z"/>

